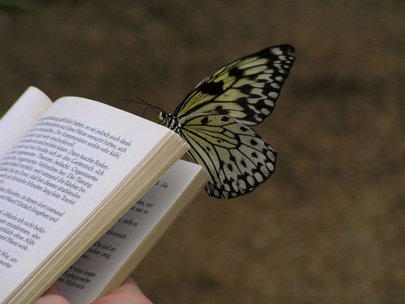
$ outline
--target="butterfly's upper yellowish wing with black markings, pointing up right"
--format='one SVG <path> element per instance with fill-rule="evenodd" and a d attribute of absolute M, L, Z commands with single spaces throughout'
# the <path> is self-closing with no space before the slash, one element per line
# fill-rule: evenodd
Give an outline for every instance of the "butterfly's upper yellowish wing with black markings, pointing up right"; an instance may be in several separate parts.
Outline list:
<path fill-rule="evenodd" d="M 294 52 L 289 45 L 274 46 L 225 65 L 188 93 L 173 115 L 218 113 L 245 125 L 261 123 L 274 108 Z"/>

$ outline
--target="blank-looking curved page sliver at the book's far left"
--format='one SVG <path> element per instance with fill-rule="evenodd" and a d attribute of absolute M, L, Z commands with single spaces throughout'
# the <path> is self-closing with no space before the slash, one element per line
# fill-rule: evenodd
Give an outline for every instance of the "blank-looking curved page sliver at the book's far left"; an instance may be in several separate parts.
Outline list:
<path fill-rule="evenodd" d="M 0 120 L 0 159 L 52 105 L 41 90 L 29 87 Z"/>

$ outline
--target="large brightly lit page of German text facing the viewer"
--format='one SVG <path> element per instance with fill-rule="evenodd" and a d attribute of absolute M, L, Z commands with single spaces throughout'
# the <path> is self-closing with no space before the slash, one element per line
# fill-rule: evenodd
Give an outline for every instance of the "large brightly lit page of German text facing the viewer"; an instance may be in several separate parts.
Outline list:
<path fill-rule="evenodd" d="M 162 126 L 85 98 L 61 98 L 45 112 L 0 160 L 0 302 L 165 134 Z"/>

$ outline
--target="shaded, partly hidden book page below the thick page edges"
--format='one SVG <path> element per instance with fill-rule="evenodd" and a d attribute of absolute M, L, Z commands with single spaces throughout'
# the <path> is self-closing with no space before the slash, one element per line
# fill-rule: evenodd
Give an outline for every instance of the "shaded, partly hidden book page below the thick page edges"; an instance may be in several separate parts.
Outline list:
<path fill-rule="evenodd" d="M 62 294 L 72 304 L 94 301 L 200 170 L 200 165 L 177 161 L 107 233 L 63 273 L 57 282 Z M 199 185 L 194 184 L 194 187 L 199 187 L 197 191 L 205 181 Z M 188 198 L 183 208 L 192 197 Z M 126 267 L 131 271 L 135 266 L 131 263 Z"/>

